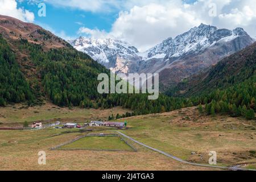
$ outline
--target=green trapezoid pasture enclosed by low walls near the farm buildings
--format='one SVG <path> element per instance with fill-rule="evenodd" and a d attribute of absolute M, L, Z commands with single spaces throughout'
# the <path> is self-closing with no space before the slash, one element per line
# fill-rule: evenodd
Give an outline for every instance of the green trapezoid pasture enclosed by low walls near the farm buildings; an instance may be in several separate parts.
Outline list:
<path fill-rule="evenodd" d="M 60 150 L 133 151 L 120 137 L 84 137 Z"/>

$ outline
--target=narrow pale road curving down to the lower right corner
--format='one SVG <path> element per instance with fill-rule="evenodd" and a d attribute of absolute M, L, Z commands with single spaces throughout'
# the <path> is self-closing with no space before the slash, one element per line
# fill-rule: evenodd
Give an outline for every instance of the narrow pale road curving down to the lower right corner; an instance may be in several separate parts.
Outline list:
<path fill-rule="evenodd" d="M 184 163 L 184 164 L 191 164 L 191 165 L 193 165 L 193 166 L 200 166 L 200 167 L 210 167 L 210 168 L 229 169 L 229 170 L 234 170 L 234 171 L 256 171 L 256 170 L 254 170 L 254 169 L 244 169 L 244 168 L 236 168 L 236 167 L 222 167 L 222 166 L 211 166 L 211 165 L 207 165 L 207 164 L 190 163 L 190 162 L 187 162 L 187 161 L 185 161 L 185 160 L 183 160 L 183 159 L 177 158 L 177 157 L 174 156 L 174 155 L 167 154 L 167 153 L 164 152 L 164 151 L 160 151 L 160 150 L 158 150 L 158 149 L 156 149 L 156 148 L 147 146 L 146 144 L 141 143 L 141 142 L 139 142 L 139 141 L 137 141 L 137 140 L 135 140 L 135 139 L 133 139 L 133 138 L 131 138 L 131 137 L 129 137 L 129 136 L 123 134 L 123 133 L 121 133 L 120 131 L 117 131 L 117 133 L 120 134 L 120 135 L 122 135 L 122 136 L 125 137 L 125 138 L 128 138 L 128 139 L 132 140 L 132 141 L 135 142 L 135 143 L 140 144 L 140 145 L 143 146 L 143 147 L 146 147 L 146 148 L 149 148 L 149 149 L 151 149 L 151 150 L 153 150 L 153 151 L 159 152 L 160 154 L 166 155 L 168 158 L 172 158 L 172 159 L 177 160 L 178 162 L 181 162 L 181 163 Z"/>

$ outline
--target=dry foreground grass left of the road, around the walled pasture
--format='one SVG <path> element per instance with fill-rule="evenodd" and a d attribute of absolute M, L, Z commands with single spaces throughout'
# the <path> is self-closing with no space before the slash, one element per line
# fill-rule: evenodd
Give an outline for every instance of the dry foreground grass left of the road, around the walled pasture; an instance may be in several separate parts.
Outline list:
<path fill-rule="evenodd" d="M 0 131 L 0 170 L 210 170 L 181 164 L 137 144 L 138 152 L 49 150 L 81 135 L 53 137 L 61 131 Z M 42 150 L 47 154 L 45 166 L 38 164 L 38 152 Z"/>

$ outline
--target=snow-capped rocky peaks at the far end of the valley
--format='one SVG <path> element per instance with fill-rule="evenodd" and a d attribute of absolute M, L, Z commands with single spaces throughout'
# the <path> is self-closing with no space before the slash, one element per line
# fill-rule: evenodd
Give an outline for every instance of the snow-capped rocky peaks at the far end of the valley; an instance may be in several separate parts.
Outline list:
<path fill-rule="evenodd" d="M 202 23 L 146 52 L 114 39 L 80 37 L 70 43 L 112 71 L 159 73 L 162 84 L 168 85 L 209 68 L 254 41 L 243 28 L 218 29 Z"/>

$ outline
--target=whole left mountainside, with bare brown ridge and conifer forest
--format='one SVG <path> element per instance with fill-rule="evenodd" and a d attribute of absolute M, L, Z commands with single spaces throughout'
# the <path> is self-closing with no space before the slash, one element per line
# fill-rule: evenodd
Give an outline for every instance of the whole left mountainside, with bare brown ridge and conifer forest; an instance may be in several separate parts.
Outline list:
<path fill-rule="evenodd" d="M 3 15 L 0 73 L 0 107 L 46 102 L 94 109 L 122 106 L 133 110 L 125 117 L 170 111 L 183 102 L 164 94 L 157 100 L 148 100 L 148 94 L 101 94 L 97 78 L 100 73 L 110 76 L 109 69 L 44 28 Z"/>

